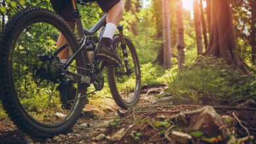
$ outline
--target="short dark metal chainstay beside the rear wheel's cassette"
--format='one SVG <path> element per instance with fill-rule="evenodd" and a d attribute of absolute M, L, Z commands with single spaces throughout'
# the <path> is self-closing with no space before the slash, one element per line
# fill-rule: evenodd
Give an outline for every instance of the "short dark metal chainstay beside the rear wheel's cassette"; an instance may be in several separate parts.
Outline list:
<path fill-rule="evenodd" d="M 79 75 L 78 73 L 72 73 L 70 71 L 64 76 L 68 81 L 72 81 L 72 83 L 84 83 L 91 84 L 91 78 L 86 77 L 85 75 Z"/>

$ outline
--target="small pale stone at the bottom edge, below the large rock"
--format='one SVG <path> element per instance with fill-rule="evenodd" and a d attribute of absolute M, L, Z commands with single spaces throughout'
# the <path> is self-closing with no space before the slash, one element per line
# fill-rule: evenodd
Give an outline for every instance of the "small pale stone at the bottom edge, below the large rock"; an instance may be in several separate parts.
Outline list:
<path fill-rule="evenodd" d="M 184 134 L 182 132 L 175 132 L 175 131 L 172 132 L 170 137 L 173 141 L 177 143 L 182 143 L 182 144 L 190 143 L 192 139 L 192 137 L 189 134 Z"/>

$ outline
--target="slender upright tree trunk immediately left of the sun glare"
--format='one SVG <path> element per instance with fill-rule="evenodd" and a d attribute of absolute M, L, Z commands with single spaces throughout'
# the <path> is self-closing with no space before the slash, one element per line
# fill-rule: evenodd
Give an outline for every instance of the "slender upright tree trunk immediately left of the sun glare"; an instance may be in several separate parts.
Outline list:
<path fill-rule="evenodd" d="M 177 0 L 177 35 L 178 35 L 178 65 L 179 71 L 182 70 L 185 54 L 184 54 L 184 24 L 183 24 L 183 9 L 182 1 Z"/>

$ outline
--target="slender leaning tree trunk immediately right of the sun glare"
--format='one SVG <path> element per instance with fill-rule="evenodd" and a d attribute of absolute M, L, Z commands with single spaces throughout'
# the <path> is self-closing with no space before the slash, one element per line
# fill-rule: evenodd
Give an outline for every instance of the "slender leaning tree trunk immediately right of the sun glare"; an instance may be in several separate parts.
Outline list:
<path fill-rule="evenodd" d="M 199 10 L 198 0 L 194 0 L 194 21 L 196 28 L 196 45 L 198 47 L 198 56 L 203 54 L 202 25 Z"/>

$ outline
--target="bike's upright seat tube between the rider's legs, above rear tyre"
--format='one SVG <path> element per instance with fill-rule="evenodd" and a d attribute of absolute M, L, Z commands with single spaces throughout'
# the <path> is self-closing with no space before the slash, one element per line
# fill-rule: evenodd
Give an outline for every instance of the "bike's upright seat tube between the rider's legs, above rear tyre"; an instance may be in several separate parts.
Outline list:
<path fill-rule="evenodd" d="M 77 7 L 77 0 L 70 0 L 70 1 L 72 1 L 74 17 L 75 17 L 75 24 L 77 27 L 77 33 L 78 33 L 79 39 L 83 39 L 85 34 L 83 33 L 83 24 L 81 21 L 81 15 L 80 15 L 79 9 Z"/>

